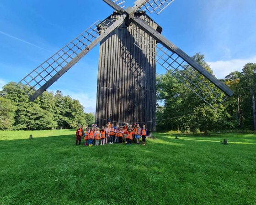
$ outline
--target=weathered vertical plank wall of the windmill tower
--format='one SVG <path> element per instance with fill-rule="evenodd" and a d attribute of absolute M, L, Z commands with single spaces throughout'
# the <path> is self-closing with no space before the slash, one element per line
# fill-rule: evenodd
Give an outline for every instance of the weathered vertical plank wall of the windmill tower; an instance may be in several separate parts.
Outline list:
<path fill-rule="evenodd" d="M 157 29 L 158 25 L 147 15 L 136 15 Z M 141 122 L 141 126 L 152 121 L 146 126 L 155 131 L 155 60 L 133 44 L 133 28 L 147 36 L 132 24 L 123 25 L 101 41 L 96 120 L 99 126 L 105 125 L 107 122 L 102 119 L 107 118 L 120 123 Z"/>

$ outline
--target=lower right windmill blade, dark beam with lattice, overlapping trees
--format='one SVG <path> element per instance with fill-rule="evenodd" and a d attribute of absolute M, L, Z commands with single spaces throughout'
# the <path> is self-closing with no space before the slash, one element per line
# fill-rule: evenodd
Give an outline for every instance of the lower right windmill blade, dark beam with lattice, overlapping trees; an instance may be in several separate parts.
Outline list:
<path fill-rule="evenodd" d="M 220 82 L 194 59 L 146 24 L 144 20 L 133 17 L 132 21 L 148 34 L 141 35 L 138 29 L 134 28 L 134 44 L 145 55 L 154 58 L 160 66 L 164 67 L 212 108 L 219 107 L 228 96 L 234 94 L 223 82 Z M 145 43 L 149 41 L 152 43 Z"/>

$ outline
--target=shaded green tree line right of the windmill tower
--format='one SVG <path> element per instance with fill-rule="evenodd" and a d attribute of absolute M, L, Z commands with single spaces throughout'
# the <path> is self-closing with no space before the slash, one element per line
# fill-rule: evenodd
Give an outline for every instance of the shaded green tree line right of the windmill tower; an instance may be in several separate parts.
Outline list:
<path fill-rule="evenodd" d="M 206 70 L 213 72 L 205 62 L 204 55 L 193 58 Z M 174 118 L 157 122 L 158 129 L 187 132 L 224 129 L 256 130 L 256 64 L 248 63 L 242 72 L 231 72 L 221 80 L 235 94 L 228 97 L 216 110 L 204 103 L 169 72 L 157 75 L 157 119 Z M 195 113 L 188 115 L 190 113 Z"/>

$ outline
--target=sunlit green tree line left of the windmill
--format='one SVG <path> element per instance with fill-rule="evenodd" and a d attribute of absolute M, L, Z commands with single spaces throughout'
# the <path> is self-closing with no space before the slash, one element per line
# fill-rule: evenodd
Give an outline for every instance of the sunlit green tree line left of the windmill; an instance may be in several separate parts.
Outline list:
<path fill-rule="evenodd" d="M 94 123 L 94 115 L 85 113 L 78 100 L 56 91 L 43 92 L 30 102 L 26 89 L 24 85 L 10 82 L 0 91 L 0 129 L 68 129 Z"/>

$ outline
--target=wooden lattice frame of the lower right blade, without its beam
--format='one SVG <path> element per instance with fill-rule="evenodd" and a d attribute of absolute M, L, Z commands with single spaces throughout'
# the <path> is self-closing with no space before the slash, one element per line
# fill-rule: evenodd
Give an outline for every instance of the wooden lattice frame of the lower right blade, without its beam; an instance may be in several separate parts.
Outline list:
<path fill-rule="evenodd" d="M 155 44 L 155 39 L 150 34 L 149 36 L 141 35 L 136 25 L 133 25 L 133 31 L 136 34 L 134 36 L 135 46 L 139 47 L 145 55 L 155 59 L 155 62 L 170 72 L 172 76 L 181 81 L 209 106 L 216 109 L 228 97 L 181 56 L 178 56 L 161 42 Z M 145 42 L 151 43 L 146 44 Z"/>

